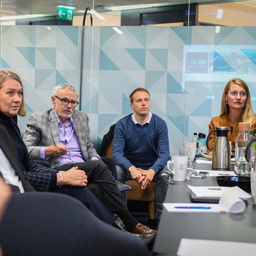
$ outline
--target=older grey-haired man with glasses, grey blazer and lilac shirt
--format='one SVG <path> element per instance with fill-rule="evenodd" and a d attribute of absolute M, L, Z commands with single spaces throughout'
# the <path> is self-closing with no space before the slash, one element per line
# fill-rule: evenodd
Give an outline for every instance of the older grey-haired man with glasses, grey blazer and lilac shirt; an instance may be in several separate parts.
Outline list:
<path fill-rule="evenodd" d="M 60 84 L 52 92 L 54 109 L 30 115 L 27 123 L 23 141 L 30 156 L 35 160 L 46 160 L 56 168 L 61 187 L 65 187 L 69 179 L 80 179 L 76 170 L 73 176 L 67 170 L 80 170 L 86 174 L 85 186 L 91 189 L 93 182 L 92 192 L 95 185 L 102 191 L 99 199 L 121 218 L 129 232 L 155 233 L 156 230 L 139 223 L 124 204 L 110 168 L 101 161 L 93 147 L 88 115 L 75 110 L 78 95 L 74 86 Z M 33 180 L 29 181 L 33 185 Z"/>

